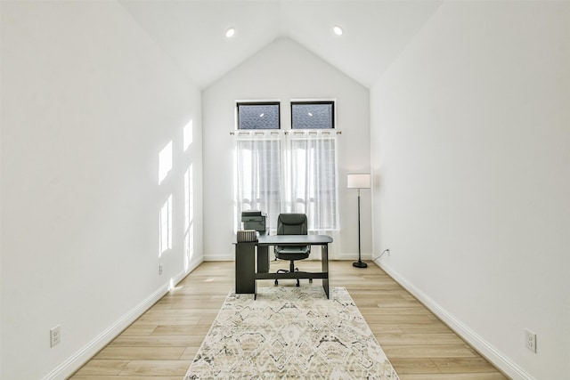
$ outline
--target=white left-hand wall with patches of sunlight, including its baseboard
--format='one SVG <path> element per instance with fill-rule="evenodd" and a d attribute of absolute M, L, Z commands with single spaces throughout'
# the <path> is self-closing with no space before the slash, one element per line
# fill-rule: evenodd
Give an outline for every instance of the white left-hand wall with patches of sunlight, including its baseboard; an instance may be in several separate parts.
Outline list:
<path fill-rule="evenodd" d="M 119 4 L 2 2 L 0 377 L 69 375 L 200 262 L 200 108 L 199 91 Z M 159 186 L 168 141 L 174 167 Z M 194 257 L 184 263 L 190 165 Z M 169 194 L 173 247 L 159 258 Z M 61 344 L 50 348 L 56 325 Z"/>

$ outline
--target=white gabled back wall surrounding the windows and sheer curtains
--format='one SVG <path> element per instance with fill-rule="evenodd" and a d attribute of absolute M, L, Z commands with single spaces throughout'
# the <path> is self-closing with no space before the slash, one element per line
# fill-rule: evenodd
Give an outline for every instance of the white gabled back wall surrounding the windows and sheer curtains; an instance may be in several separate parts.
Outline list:
<path fill-rule="evenodd" d="M 358 252 L 356 190 L 347 173 L 370 173 L 368 89 L 287 37 L 233 69 L 202 93 L 204 115 L 204 252 L 207 260 L 232 260 L 233 140 L 237 100 L 281 100 L 281 128 L 290 127 L 291 99 L 336 99 L 338 190 L 341 238 L 332 257 L 354 259 Z M 371 253 L 370 190 L 362 190 L 362 256 Z M 270 215 L 271 217 L 271 215 Z M 276 217 L 276 215 L 273 215 Z"/>

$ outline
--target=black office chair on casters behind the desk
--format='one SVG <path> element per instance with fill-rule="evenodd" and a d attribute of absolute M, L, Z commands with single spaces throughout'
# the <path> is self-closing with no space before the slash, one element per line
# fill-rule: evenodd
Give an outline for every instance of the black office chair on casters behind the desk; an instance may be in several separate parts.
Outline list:
<path fill-rule="evenodd" d="M 305 214 L 279 214 L 277 218 L 277 235 L 306 235 L 307 221 Z M 277 273 L 293 273 L 298 271 L 295 268 L 296 260 L 304 260 L 309 257 L 311 246 L 276 246 L 275 257 L 280 260 L 289 260 L 289 271 L 280 269 Z M 313 282 L 313 279 L 309 279 Z M 278 284 L 275 279 L 275 285 Z M 297 279 L 297 287 L 299 279 Z"/>

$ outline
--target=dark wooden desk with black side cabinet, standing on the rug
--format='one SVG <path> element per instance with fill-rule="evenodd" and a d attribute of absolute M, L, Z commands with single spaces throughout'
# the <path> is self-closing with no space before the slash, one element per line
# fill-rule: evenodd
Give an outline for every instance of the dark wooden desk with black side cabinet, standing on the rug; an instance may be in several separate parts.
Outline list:
<path fill-rule="evenodd" d="M 329 243 L 332 238 L 327 235 L 265 235 L 258 241 L 235 244 L 235 292 L 256 294 L 257 279 L 322 279 L 322 288 L 329 297 Z M 265 260 L 269 246 L 321 246 L 322 271 L 269 273 L 256 271 L 256 252 L 258 260 Z M 259 268 L 259 267 L 258 267 Z"/>

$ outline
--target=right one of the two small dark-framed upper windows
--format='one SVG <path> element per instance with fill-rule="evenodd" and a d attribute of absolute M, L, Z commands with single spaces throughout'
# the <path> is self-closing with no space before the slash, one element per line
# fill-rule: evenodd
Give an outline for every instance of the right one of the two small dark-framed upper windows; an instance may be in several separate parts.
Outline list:
<path fill-rule="evenodd" d="M 332 129 L 334 127 L 334 101 L 291 101 L 291 128 Z"/>

